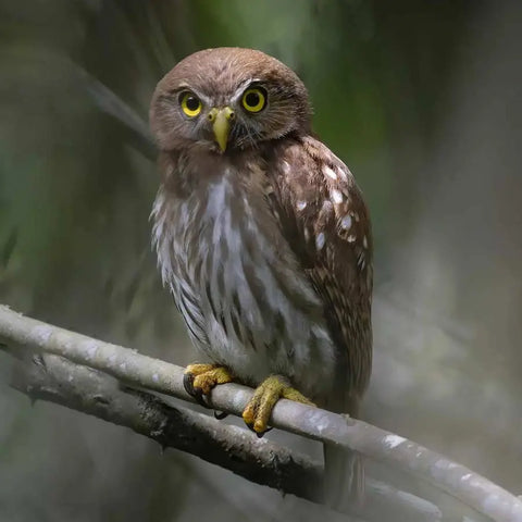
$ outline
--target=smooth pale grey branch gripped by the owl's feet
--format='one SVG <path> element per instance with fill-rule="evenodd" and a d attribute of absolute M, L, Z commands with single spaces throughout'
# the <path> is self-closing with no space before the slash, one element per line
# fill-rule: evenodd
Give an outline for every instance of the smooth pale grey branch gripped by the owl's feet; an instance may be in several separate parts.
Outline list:
<path fill-rule="evenodd" d="M 65 357 L 135 386 L 192 400 L 183 387 L 182 368 L 24 318 L 7 307 L 0 307 L 0 339 Z M 212 391 L 212 405 L 240 415 L 251 394 L 245 386 L 221 385 Z M 355 449 L 413 473 L 499 522 L 522 520 L 522 501 L 510 493 L 423 446 L 362 421 L 279 400 L 271 424 L 311 439 Z"/>

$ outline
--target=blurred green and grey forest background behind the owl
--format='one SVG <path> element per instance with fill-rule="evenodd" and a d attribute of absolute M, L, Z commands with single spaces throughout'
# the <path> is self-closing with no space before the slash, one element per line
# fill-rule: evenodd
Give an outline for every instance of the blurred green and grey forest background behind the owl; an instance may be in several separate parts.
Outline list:
<path fill-rule="evenodd" d="M 191 361 L 150 252 L 156 166 L 99 86 L 146 121 L 183 57 L 261 49 L 302 77 L 314 130 L 371 208 L 364 418 L 522 494 L 521 26 L 509 1 L 0 0 L 0 302 Z M 319 515 L 128 431 L 32 408 L 9 365 L 0 355 L 1 522 Z"/>

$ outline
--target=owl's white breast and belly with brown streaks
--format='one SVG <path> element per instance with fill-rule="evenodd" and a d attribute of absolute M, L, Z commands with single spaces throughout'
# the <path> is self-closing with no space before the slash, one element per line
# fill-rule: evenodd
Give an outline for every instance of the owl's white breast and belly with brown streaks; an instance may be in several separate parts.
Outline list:
<path fill-rule="evenodd" d="M 322 300 L 270 207 L 264 162 L 169 156 L 153 240 L 192 340 L 244 383 L 278 373 L 322 400 L 335 346 Z"/>

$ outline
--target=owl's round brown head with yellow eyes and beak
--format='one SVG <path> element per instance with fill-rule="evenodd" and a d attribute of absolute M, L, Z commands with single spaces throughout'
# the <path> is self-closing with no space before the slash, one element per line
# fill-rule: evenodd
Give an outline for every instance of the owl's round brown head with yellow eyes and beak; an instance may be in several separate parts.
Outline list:
<path fill-rule="evenodd" d="M 261 51 L 217 48 L 181 61 L 156 88 L 150 124 L 162 150 L 224 153 L 310 130 L 303 83 Z"/>

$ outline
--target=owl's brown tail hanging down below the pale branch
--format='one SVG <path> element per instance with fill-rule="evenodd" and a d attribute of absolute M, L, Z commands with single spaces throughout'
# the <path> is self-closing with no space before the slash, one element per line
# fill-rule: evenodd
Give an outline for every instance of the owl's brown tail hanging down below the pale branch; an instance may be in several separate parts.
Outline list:
<path fill-rule="evenodd" d="M 333 509 L 364 504 L 364 462 L 362 455 L 325 444 L 324 497 Z"/>

